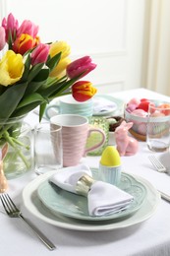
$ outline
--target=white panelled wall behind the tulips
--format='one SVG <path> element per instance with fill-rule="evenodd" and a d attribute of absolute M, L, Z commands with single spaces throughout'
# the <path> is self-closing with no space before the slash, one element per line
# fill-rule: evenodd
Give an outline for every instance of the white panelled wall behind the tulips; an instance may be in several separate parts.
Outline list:
<path fill-rule="evenodd" d="M 0 0 L 0 15 L 12 12 L 39 25 L 41 40 L 67 40 L 72 58 L 90 55 L 97 68 L 85 79 L 109 93 L 141 87 L 145 0 Z"/>

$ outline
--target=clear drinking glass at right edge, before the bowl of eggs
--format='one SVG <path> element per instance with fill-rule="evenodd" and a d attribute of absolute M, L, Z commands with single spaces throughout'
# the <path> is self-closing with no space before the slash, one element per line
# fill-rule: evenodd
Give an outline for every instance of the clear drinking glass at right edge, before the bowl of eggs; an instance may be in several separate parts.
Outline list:
<path fill-rule="evenodd" d="M 170 108 L 149 104 L 146 129 L 149 150 L 164 152 L 170 146 Z"/>

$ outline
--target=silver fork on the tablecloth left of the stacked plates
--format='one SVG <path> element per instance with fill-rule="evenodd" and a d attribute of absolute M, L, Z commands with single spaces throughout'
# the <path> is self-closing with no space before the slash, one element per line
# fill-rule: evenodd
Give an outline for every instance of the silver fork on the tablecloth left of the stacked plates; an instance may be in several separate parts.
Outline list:
<path fill-rule="evenodd" d="M 28 221 L 23 217 L 21 211 L 16 207 L 8 194 L 1 194 L 0 198 L 2 205 L 9 217 L 20 218 L 25 224 L 28 225 L 28 227 L 30 227 L 33 233 L 40 239 L 41 242 L 46 245 L 48 249 L 54 250 L 56 248 L 55 245 L 47 237 L 44 236 L 44 234 L 42 234 L 35 226 L 28 223 Z"/>

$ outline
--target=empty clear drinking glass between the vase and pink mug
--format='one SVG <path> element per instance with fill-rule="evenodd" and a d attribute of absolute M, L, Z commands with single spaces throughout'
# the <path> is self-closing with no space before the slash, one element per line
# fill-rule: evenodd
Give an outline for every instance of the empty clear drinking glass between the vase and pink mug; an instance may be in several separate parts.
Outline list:
<path fill-rule="evenodd" d="M 63 166 L 62 127 L 49 122 L 34 128 L 34 167 L 36 174 Z"/>

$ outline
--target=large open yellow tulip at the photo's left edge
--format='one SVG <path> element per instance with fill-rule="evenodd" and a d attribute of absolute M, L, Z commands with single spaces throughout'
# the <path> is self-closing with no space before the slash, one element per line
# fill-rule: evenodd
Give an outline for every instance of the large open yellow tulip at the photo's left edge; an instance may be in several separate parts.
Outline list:
<path fill-rule="evenodd" d="M 25 70 L 23 56 L 8 50 L 0 61 L 0 85 L 9 86 L 18 82 Z"/>

